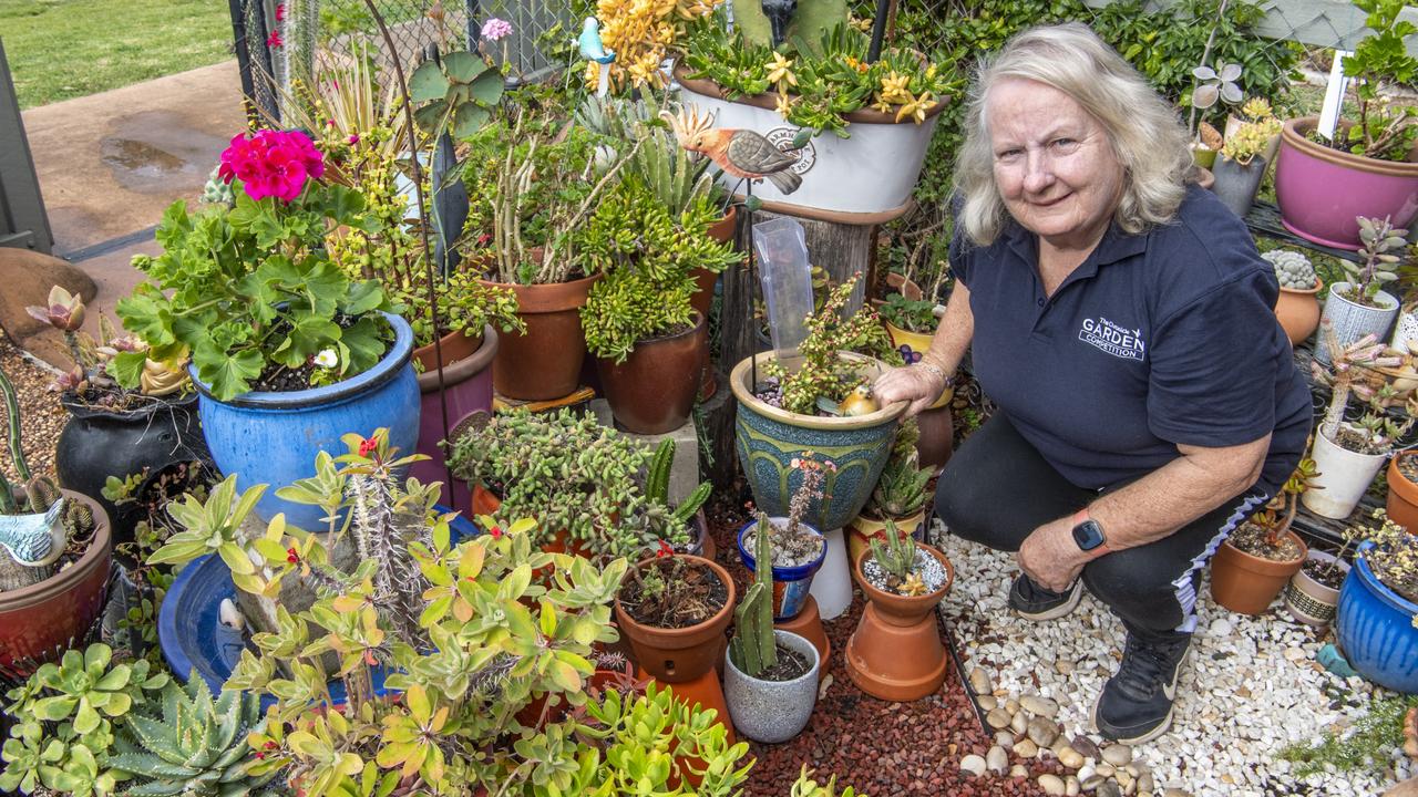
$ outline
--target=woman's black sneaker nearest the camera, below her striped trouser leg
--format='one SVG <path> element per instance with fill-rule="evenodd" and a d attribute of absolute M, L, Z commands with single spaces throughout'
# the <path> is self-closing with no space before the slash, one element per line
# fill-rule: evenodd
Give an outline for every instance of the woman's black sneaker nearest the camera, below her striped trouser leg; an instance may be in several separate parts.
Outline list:
<path fill-rule="evenodd" d="M 1093 706 L 1093 725 L 1105 737 L 1141 745 L 1171 726 L 1177 674 L 1187 658 L 1191 634 L 1127 632 L 1117 675 L 1107 679 Z"/>

